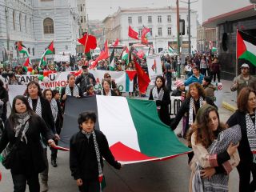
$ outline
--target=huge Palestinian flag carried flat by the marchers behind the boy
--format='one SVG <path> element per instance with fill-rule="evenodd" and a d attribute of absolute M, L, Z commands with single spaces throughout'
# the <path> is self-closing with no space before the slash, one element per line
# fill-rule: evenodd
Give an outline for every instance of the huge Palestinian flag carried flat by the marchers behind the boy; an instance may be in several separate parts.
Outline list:
<path fill-rule="evenodd" d="M 191 150 L 161 122 L 153 101 L 102 95 L 67 99 L 61 146 L 69 147 L 70 137 L 79 131 L 78 114 L 86 110 L 97 114 L 95 127 L 106 135 L 110 150 L 120 162 L 174 158 Z"/>

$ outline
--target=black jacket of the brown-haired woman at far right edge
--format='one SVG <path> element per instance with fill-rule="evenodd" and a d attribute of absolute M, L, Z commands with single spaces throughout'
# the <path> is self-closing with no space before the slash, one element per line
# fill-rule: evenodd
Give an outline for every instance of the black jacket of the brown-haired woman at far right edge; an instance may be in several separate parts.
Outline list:
<path fill-rule="evenodd" d="M 253 154 L 250 150 L 250 145 L 247 138 L 247 130 L 246 130 L 246 114 L 239 112 L 238 110 L 231 115 L 231 117 L 227 120 L 226 124 L 228 126 L 241 126 L 242 139 L 238 146 L 238 153 L 240 156 L 240 164 L 242 163 L 251 163 L 253 162 Z"/>

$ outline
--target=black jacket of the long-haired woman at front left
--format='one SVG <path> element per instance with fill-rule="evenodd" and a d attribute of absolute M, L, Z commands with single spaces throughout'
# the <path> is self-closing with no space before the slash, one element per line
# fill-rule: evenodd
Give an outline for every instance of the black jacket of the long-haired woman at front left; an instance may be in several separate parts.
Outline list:
<path fill-rule="evenodd" d="M 52 131 L 46 126 L 46 122 L 37 114 L 34 114 L 29 120 L 30 126 L 26 131 L 26 142 L 19 142 L 18 153 L 14 160 L 14 166 L 11 167 L 11 172 L 14 174 L 34 174 L 40 173 L 46 168 L 43 160 L 43 148 L 40 142 L 40 134 L 47 140 L 54 138 Z M 10 119 L 6 120 L 5 129 L 2 132 L 0 140 L 0 153 L 10 142 L 16 142 L 14 126 Z"/>

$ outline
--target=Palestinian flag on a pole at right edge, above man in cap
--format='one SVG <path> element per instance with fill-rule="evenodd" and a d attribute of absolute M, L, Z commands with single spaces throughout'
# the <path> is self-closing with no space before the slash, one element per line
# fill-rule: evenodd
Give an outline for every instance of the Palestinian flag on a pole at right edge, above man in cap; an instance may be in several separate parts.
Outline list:
<path fill-rule="evenodd" d="M 237 32 L 237 58 L 256 66 L 256 38 L 241 30 Z"/>

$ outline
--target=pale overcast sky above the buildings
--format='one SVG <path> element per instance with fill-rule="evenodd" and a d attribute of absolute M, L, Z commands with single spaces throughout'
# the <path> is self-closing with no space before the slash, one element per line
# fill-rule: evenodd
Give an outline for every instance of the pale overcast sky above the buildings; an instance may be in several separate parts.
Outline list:
<path fill-rule="evenodd" d="M 202 0 L 190 0 L 194 2 L 191 4 L 192 10 L 198 11 L 198 21 L 202 21 Z M 183 0 L 188 2 L 188 0 Z M 186 3 L 180 2 L 180 6 L 187 6 Z M 86 11 L 89 14 L 89 19 L 103 20 L 107 15 L 113 14 L 118 10 L 118 6 L 122 8 L 133 7 L 162 7 L 162 6 L 176 6 L 176 0 L 86 0 Z"/>

